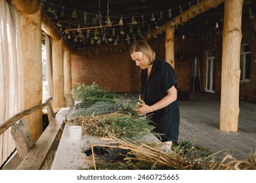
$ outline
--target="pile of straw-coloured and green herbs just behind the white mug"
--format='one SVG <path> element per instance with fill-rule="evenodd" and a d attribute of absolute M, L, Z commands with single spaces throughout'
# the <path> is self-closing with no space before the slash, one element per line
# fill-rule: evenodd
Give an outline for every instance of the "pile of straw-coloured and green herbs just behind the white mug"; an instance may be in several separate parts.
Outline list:
<path fill-rule="evenodd" d="M 146 117 L 131 116 L 120 112 L 102 114 L 99 116 L 74 116 L 68 118 L 70 125 L 81 125 L 83 135 L 96 137 L 127 137 L 137 139 L 149 133 L 154 133 L 154 126 L 149 125 Z M 154 133 L 158 135 L 157 133 Z"/>

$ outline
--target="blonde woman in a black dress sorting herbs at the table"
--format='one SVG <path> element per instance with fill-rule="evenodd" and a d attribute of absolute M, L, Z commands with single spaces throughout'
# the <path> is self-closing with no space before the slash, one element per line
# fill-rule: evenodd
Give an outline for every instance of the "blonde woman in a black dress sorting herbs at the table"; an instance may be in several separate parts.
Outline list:
<path fill-rule="evenodd" d="M 177 103 L 177 82 L 173 67 L 158 58 L 148 43 L 137 41 L 131 46 L 130 55 L 140 67 L 140 103 L 138 114 L 151 117 L 160 141 L 171 149 L 172 142 L 179 137 L 179 105 Z"/>

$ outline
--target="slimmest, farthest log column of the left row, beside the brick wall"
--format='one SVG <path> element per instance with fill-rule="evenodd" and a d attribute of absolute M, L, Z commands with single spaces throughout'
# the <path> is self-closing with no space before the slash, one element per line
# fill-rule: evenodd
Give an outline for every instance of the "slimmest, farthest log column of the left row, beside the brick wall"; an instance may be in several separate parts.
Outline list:
<path fill-rule="evenodd" d="M 64 97 L 66 107 L 72 106 L 72 98 L 70 95 L 72 89 L 71 78 L 71 52 L 64 46 Z"/>

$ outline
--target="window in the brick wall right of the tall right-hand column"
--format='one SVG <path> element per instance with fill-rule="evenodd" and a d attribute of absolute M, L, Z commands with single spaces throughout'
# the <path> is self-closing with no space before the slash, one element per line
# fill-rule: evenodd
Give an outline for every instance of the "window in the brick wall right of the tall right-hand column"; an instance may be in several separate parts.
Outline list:
<path fill-rule="evenodd" d="M 250 82 L 251 52 L 250 52 L 250 46 L 247 44 L 241 45 L 240 69 L 241 69 L 240 82 Z"/>

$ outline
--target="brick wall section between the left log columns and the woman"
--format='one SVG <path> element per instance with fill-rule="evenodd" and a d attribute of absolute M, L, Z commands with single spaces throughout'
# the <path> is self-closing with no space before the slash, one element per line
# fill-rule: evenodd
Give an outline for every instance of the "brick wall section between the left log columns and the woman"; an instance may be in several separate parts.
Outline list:
<path fill-rule="evenodd" d="M 72 53 L 72 86 L 95 82 L 109 92 L 137 92 L 139 78 L 128 45 L 98 45 Z"/>

